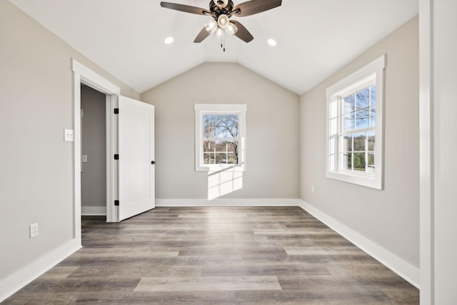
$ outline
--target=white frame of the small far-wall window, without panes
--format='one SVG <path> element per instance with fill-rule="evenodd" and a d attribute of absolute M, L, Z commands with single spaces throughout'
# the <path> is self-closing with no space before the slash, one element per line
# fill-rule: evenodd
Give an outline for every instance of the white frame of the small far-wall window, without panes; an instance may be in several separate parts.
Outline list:
<path fill-rule="evenodd" d="M 194 104 L 195 110 L 195 171 L 246 171 L 246 104 Z M 203 130 L 204 114 L 238 115 L 238 164 L 204 164 Z"/>

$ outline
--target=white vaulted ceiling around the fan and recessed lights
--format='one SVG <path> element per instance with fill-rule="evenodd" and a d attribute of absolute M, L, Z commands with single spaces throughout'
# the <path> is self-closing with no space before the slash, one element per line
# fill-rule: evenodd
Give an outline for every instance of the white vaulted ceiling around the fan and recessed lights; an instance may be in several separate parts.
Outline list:
<path fill-rule="evenodd" d="M 139 93 L 223 61 L 303 94 L 418 14 L 418 0 L 283 0 L 276 9 L 233 17 L 254 40 L 228 38 L 224 52 L 213 36 L 193 43 L 209 17 L 164 9 L 157 0 L 9 1 Z M 209 7 L 209 0 L 167 1 Z M 168 36 L 171 45 L 164 44 Z"/>

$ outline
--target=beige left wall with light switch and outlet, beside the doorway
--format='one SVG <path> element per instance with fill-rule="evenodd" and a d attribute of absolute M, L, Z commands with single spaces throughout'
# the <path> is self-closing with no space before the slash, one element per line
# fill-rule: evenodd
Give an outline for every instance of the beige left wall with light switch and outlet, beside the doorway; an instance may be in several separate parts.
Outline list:
<path fill-rule="evenodd" d="M 0 1 L 0 294 L 7 276 L 74 236 L 74 144 L 64 141 L 64 129 L 74 126 L 71 58 L 119 86 L 121 94 L 138 98 Z M 36 222 L 39 236 L 29 239 L 29 224 Z"/>

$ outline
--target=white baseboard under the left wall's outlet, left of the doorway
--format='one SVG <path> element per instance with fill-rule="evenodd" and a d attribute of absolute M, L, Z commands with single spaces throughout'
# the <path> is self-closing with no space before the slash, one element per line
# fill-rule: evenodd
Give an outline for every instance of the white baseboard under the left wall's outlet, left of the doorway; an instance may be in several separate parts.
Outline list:
<path fill-rule="evenodd" d="M 10 274 L 9 276 L 0 279 L 0 302 L 7 299 L 16 291 L 19 291 L 19 289 L 26 286 L 26 284 L 29 284 L 80 248 L 81 241 L 71 239 L 57 249 L 50 251 L 48 254 L 36 259 L 36 261 L 32 261 L 30 264 L 22 267 L 14 272 L 14 274 Z"/>

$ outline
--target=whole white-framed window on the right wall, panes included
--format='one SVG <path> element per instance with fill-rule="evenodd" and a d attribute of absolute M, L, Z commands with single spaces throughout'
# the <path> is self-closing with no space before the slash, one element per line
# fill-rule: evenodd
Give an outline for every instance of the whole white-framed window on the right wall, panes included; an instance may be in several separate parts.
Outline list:
<path fill-rule="evenodd" d="M 384 68 L 381 56 L 327 88 L 328 178 L 382 189 Z"/>

